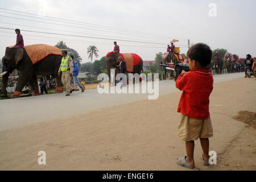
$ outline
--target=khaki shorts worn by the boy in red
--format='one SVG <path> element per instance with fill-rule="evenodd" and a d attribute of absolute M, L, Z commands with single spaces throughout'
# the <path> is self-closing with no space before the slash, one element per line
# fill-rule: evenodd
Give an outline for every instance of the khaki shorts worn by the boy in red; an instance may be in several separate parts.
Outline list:
<path fill-rule="evenodd" d="M 199 138 L 213 137 L 213 128 L 210 118 L 193 119 L 182 114 L 178 137 L 186 142 L 197 140 Z"/>

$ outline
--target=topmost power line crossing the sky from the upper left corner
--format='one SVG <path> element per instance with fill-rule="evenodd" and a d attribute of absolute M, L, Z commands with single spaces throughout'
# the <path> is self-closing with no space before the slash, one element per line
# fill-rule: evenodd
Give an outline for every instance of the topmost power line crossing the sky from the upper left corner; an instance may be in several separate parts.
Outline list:
<path fill-rule="evenodd" d="M 15 11 L 15 10 L 9 10 L 9 9 L 3 9 L 0 7 L 0 9 L 2 10 L 7 10 L 7 11 L 13 11 L 13 12 L 16 12 L 16 13 L 23 13 L 23 14 L 29 14 L 29 15 L 34 15 L 34 16 L 39 16 L 37 14 L 31 14 L 31 13 L 24 13 L 22 11 Z M 137 32 L 137 33 L 140 33 L 140 34 L 148 34 L 148 35 L 154 35 L 154 36 L 158 36 L 158 37 L 162 37 L 162 38 L 168 38 L 168 39 L 172 39 L 171 37 L 167 37 L 167 36 L 163 36 L 163 35 L 157 35 L 157 34 L 149 34 L 149 33 L 146 33 L 146 32 L 140 32 L 140 31 L 134 31 L 134 30 L 127 30 L 127 29 L 123 29 L 123 28 L 116 28 L 116 27 L 110 27 L 110 26 L 102 26 L 102 25 L 99 25 L 99 24 L 93 24 L 93 23 L 86 23 L 86 22 L 79 22 L 79 21 L 76 21 L 76 20 L 68 20 L 68 19 L 61 19 L 61 18 L 55 18 L 55 17 L 52 17 L 52 16 L 44 16 L 44 17 L 47 17 L 47 18 L 51 18 L 51 19 L 59 19 L 59 20 L 65 20 L 65 21 L 68 21 L 68 22 L 76 22 L 76 23 L 83 23 L 83 24 L 89 24 L 89 25 L 93 25 L 94 27 L 95 26 L 100 26 L 100 27 L 105 27 L 105 28 L 112 28 L 114 30 L 122 30 L 122 31 L 129 31 L 129 32 Z M 34 17 L 35 18 L 35 17 Z M 177 39 L 177 38 L 174 38 L 174 39 Z M 184 39 L 185 40 L 185 39 Z M 187 39 L 186 39 L 187 40 Z"/>

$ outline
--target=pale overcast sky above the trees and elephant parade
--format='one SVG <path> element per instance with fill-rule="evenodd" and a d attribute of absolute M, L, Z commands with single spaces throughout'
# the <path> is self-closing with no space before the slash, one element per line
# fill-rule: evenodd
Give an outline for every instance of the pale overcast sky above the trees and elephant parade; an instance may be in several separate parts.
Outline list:
<path fill-rule="evenodd" d="M 209 8 L 210 3 L 216 4 L 217 16 L 209 16 L 209 11 L 214 10 Z M 182 53 L 187 52 L 188 48 L 185 46 L 190 39 L 191 43 L 207 43 L 212 49 L 228 49 L 240 57 L 245 57 L 247 53 L 256 55 L 255 0 L 9 0 L 1 1 L 0 7 L 41 15 L 32 18 L 27 16 L 33 15 L 0 9 L 0 27 L 110 39 L 22 31 L 26 45 L 43 43 L 55 46 L 59 40 L 63 40 L 68 47 L 79 52 L 84 63 L 89 61 L 88 46 L 98 48 L 100 59 L 107 52 L 113 51 L 113 42 L 117 39 L 158 43 L 117 41 L 122 53 L 137 53 L 143 60 L 154 60 L 157 52 L 166 51 L 167 44 L 172 39 L 180 40 L 177 44 L 181 45 Z M 65 23 L 56 19 L 50 21 L 46 16 L 93 23 L 97 26 Z M 2 57 L 5 47 L 15 44 L 16 35 L 14 30 L 0 29 L 0 32 Z"/>

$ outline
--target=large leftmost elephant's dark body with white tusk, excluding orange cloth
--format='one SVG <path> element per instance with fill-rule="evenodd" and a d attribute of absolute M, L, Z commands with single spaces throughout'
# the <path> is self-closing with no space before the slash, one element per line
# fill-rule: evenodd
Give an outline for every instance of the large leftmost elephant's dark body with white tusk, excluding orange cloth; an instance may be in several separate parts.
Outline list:
<path fill-rule="evenodd" d="M 58 71 L 61 64 L 61 55 L 48 55 L 38 63 L 32 64 L 30 57 L 23 48 L 6 48 L 5 56 L 2 64 L 2 94 L 7 94 L 6 86 L 9 75 L 14 69 L 18 69 L 19 78 L 16 85 L 15 92 L 12 98 L 20 97 L 24 86 L 30 82 L 34 96 L 39 94 L 37 75 L 55 76 L 57 80 L 57 88 L 62 88 L 61 76 Z"/>

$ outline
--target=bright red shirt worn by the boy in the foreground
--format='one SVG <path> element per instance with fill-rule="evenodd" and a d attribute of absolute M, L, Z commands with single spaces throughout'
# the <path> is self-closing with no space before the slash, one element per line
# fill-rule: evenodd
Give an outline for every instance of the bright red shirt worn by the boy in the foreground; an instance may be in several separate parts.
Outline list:
<path fill-rule="evenodd" d="M 180 74 L 176 87 L 183 91 L 178 113 L 194 119 L 210 117 L 210 94 L 213 90 L 213 76 L 207 69 L 196 69 L 186 74 Z"/>

